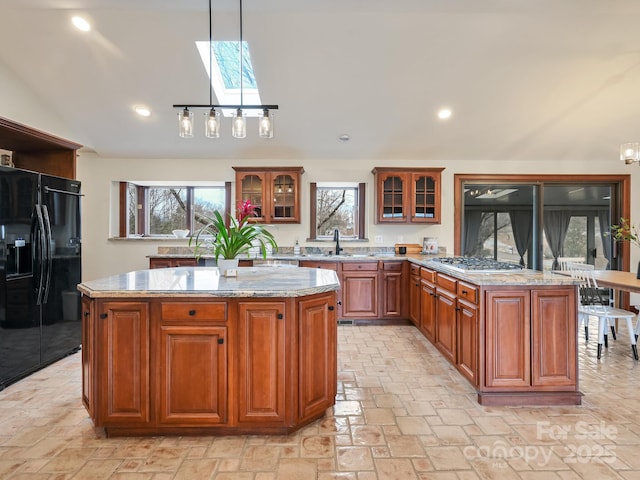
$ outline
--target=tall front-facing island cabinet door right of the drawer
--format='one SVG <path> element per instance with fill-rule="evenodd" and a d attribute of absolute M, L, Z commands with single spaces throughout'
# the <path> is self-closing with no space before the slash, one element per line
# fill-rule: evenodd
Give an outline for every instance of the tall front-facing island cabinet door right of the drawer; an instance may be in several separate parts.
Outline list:
<path fill-rule="evenodd" d="M 285 420 L 284 302 L 238 304 L 238 420 Z"/>

